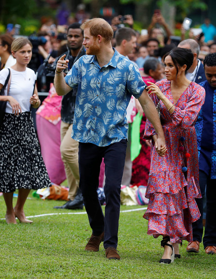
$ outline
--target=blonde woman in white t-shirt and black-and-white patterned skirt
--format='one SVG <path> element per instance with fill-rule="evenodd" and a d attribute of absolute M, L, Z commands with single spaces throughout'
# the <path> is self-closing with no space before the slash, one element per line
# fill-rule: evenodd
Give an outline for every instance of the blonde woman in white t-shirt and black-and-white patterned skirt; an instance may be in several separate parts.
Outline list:
<path fill-rule="evenodd" d="M 50 187 L 50 178 L 40 153 L 40 147 L 30 113 L 31 105 L 40 105 L 34 88 L 35 73 L 27 68 L 32 58 L 32 44 L 19 37 L 11 45 L 17 63 L 10 67 L 11 83 L 0 101 L 7 101 L 3 124 L 0 127 L 0 192 L 7 207 L 8 224 L 32 223 L 26 219 L 23 207 L 31 189 Z M 8 69 L 0 71 L 0 89 L 8 76 Z M 33 92 L 34 89 L 34 92 Z M 13 208 L 13 194 L 18 189 L 17 204 Z"/>

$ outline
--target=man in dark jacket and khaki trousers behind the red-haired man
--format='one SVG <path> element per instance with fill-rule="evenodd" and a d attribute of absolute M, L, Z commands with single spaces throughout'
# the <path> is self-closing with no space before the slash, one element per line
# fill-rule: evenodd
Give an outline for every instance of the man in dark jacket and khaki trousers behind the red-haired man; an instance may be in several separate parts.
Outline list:
<path fill-rule="evenodd" d="M 81 24 L 75 22 L 67 29 L 67 52 L 66 58 L 69 60 L 68 68 L 64 70 L 64 75 L 71 69 L 77 59 L 85 54 L 83 48 L 83 31 Z M 53 63 L 55 70 L 59 57 Z M 57 73 L 60 74 L 60 73 Z M 76 90 L 72 89 L 62 98 L 61 108 L 61 156 L 65 165 L 66 178 L 69 187 L 68 201 L 63 206 L 55 209 L 83 209 L 83 197 L 79 190 L 79 166 L 78 166 L 78 141 L 71 138 L 73 117 L 75 109 Z"/>

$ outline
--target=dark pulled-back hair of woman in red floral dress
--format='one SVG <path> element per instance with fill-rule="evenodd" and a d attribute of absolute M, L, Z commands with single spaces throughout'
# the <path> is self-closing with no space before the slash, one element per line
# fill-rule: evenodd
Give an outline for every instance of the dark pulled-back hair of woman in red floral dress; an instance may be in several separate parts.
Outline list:
<path fill-rule="evenodd" d="M 177 70 L 176 75 L 179 72 L 179 67 L 183 67 L 183 65 L 187 66 L 185 70 L 186 73 L 187 70 L 190 69 L 194 61 L 194 55 L 189 49 L 183 49 L 178 47 L 174 48 L 170 52 L 166 53 L 166 55 L 164 56 L 164 61 L 166 56 L 168 55 L 172 58 L 172 61 L 176 67 Z"/>

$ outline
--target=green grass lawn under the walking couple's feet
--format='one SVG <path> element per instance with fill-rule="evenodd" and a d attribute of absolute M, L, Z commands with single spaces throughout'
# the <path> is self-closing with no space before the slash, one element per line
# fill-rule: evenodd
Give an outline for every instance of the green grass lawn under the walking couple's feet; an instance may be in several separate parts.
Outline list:
<path fill-rule="evenodd" d="M 85 210 L 53 209 L 64 201 L 33 198 L 26 201 L 26 216 L 78 213 Z M 14 198 L 16 202 L 16 198 Z M 142 208 L 121 206 L 121 210 Z M 120 261 L 107 260 L 99 252 L 84 251 L 91 229 L 86 214 L 58 214 L 29 218 L 33 224 L 7 225 L 0 220 L 0 279 L 216 279 L 216 256 L 187 253 L 181 259 L 159 264 L 161 238 L 147 235 L 148 222 L 138 211 L 122 212 L 119 220 Z M 5 204 L 0 197 L 0 218 Z"/>

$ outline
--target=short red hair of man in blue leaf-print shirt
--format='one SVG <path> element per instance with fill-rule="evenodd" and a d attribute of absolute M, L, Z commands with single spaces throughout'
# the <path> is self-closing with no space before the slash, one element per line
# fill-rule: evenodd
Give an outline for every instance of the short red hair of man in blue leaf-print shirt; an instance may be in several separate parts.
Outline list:
<path fill-rule="evenodd" d="M 107 43 L 111 42 L 113 38 L 113 28 L 105 19 L 100 17 L 85 21 L 80 28 L 83 31 L 84 29 L 89 28 L 90 35 L 93 37 L 101 35 Z"/>

